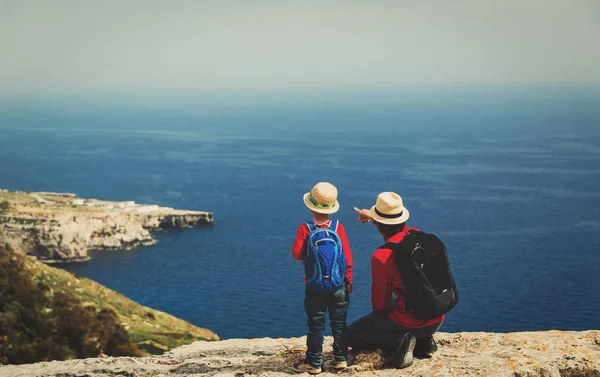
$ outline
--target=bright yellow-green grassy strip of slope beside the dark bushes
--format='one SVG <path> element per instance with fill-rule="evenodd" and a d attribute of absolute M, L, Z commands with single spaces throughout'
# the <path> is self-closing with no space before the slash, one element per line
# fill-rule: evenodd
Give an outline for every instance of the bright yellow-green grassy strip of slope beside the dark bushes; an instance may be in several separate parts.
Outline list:
<path fill-rule="evenodd" d="M 162 353 L 196 340 L 219 340 L 210 330 L 196 327 L 167 313 L 142 306 L 92 280 L 50 267 L 33 258 L 26 266 L 35 280 L 43 281 L 55 291 L 70 291 L 84 304 L 113 309 L 126 324 L 131 340 L 145 353 Z"/>

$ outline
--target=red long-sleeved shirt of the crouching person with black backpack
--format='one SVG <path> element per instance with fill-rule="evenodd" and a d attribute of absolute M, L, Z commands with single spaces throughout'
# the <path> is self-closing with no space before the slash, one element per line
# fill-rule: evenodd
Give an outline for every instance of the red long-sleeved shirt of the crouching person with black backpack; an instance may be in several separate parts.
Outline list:
<path fill-rule="evenodd" d="M 400 242 L 406 236 L 409 230 L 418 230 L 415 228 L 405 227 L 400 233 L 393 235 L 385 240 L 385 242 Z M 411 310 L 406 309 L 404 296 L 394 292 L 394 288 L 404 289 L 402 277 L 396 267 L 393 251 L 387 248 L 379 248 L 371 258 L 371 304 L 373 311 L 386 310 L 392 305 L 392 294 L 396 297 L 396 302 L 393 304 L 389 317 L 392 321 L 400 326 L 409 328 L 420 328 L 435 325 L 444 320 L 444 316 L 440 316 L 427 321 L 416 319 Z"/>

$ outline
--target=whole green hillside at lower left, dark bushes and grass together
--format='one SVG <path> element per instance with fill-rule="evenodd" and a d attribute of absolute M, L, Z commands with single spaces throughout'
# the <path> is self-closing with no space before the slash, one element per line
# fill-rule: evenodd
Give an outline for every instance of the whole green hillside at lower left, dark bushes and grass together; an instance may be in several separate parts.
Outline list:
<path fill-rule="evenodd" d="M 213 332 L 0 246 L 0 363 L 161 354 Z"/>

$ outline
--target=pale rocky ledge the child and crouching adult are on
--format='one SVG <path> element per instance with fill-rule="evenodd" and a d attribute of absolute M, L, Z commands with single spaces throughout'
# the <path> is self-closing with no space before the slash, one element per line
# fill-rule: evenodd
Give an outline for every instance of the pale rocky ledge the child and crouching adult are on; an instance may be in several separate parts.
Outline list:
<path fill-rule="evenodd" d="M 600 331 L 440 333 L 432 358 L 393 369 L 380 352 L 354 355 L 343 372 L 322 376 L 600 377 Z M 106 358 L 0 367 L 6 377 L 289 376 L 305 338 L 196 342 L 162 356 Z M 327 338 L 325 349 L 331 349 Z M 331 356 L 328 352 L 326 358 Z M 307 376 L 307 374 L 304 374 Z"/>

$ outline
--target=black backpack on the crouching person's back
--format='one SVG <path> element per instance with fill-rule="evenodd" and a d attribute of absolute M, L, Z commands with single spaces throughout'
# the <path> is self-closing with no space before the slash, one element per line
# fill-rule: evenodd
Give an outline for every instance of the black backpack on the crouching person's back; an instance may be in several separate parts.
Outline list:
<path fill-rule="evenodd" d="M 409 231 L 399 242 L 381 246 L 394 252 L 405 290 L 396 288 L 417 319 L 446 314 L 458 303 L 444 243 L 433 234 Z"/>

